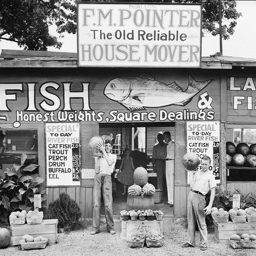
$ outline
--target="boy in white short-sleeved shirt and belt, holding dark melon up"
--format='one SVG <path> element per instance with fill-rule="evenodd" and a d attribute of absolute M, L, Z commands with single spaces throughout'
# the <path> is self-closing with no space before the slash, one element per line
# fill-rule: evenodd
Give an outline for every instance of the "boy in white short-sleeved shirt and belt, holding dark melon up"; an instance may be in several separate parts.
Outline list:
<path fill-rule="evenodd" d="M 200 250 L 207 250 L 207 226 L 205 215 L 212 209 L 215 197 L 215 176 L 209 170 L 211 158 L 204 156 L 201 159 L 201 169 L 189 171 L 190 192 L 187 203 L 188 233 L 187 241 L 182 247 L 195 247 L 195 221 L 200 232 Z M 187 170 L 188 171 L 188 170 Z M 211 191 L 210 201 L 206 207 L 205 195 Z"/>

